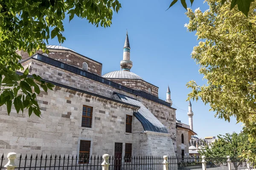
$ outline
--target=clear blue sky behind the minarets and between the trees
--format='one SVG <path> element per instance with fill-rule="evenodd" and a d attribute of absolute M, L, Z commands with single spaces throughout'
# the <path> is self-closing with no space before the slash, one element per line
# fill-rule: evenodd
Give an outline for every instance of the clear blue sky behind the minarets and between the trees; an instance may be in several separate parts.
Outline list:
<path fill-rule="evenodd" d="M 176 118 L 188 124 L 186 82 L 195 80 L 199 85 L 203 76 L 198 73 L 198 65 L 191 59 L 191 52 L 198 44 L 195 33 L 189 33 L 184 27 L 188 23 L 185 9 L 180 0 L 168 11 L 172 0 L 121 0 L 122 8 L 113 15 L 112 26 L 96 28 L 87 20 L 78 17 L 69 23 L 64 22 L 66 41 L 62 46 L 90 57 L 103 64 L 102 75 L 120 70 L 122 48 L 125 42 L 126 29 L 131 45 L 132 72 L 151 84 L 159 87 L 160 99 L 166 99 L 167 86 L 170 86 L 173 107 L 177 108 Z M 187 0 L 189 3 L 189 0 Z M 203 0 L 195 0 L 192 8 L 207 9 Z M 49 45 L 58 45 L 55 38 Z M 209 105 L 191 101 L 194 112 L 194 131 L 198 137 L 217 136 L 218 134 L 237 133 L 241 123 L 236 119 L 231 122 L 214 117 L 209 112 Z"/>

